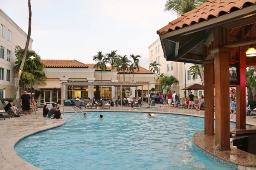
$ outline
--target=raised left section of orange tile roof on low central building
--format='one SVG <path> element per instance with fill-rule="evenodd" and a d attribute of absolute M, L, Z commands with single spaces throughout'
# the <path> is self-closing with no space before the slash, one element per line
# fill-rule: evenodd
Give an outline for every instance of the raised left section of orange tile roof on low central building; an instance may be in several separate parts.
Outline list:
<path fill-rule="evenodd" d="M 88 65 L 77 60 L 41 59 L 46 68 L 88 68 Z"/>

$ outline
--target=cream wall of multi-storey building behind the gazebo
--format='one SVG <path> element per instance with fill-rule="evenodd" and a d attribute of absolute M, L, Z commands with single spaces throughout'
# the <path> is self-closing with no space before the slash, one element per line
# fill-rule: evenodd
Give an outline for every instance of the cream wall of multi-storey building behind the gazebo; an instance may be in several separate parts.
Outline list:
<path fill-rule="evenodd" d="M 156 51 L 157 48 L 157 51 Z M 151 52 L 152 51 L 152 52 Z M 176 91 L 178 94 L 180 94 L 180 96 L 184 96 L 184 90 L 181 90 L 183 88 L 185 88 L 185 76 L 184 74 L 186 74 L 186 87 L 193 85 L 195 83 L 201 84 L 201 79 L 198 76 L 197 79 L 195 79 L 195 81 L 192 79 L 188 80 L 188 74 L 187 71 L 189 71 L 189 68 L 191 66 L 193 66 L 193 64 L 190 63 L 186 63 L 186 72 L 185 72 L 185 65 L 184 62 L 173 62 L 173 61 L 166 61 L 164 55 L 163 55 L 163 48 L 161 46 L 161 42 L 160 39 L 157 39 L 155 42 L 153 42 L 149 47 L 148 47 L 148 62 L 149 64 L 151 62 L 157 61 L 157 63 L 159 63 L 161 66 L 160 68 L 160 73 L 163 73 L 167 76 L 174 76 L 176 77 L 176 79 L 178 79 L 180 81 L 179 85 L 173 85 L 172 86 L 172 91 Z M 160 60 L 159 60 L 160 59 Z M 167 69 L 169 65 L 169 71 Z M 171 68 L 171 65 L 173 65 L 173 69 Z M 156 77 L 157 79 L 157 77 Z M 156 83 L 156 85 L 160 85 L 159 81 Z M 202 94 L 204 95 L 204 91 L 203 90 L 198 90 L 198 91 L 194 91 L 192 90 L 193 94 L 197 94 L 199 95 L 200 91 L 202 92 Z M 164 91 L 165 92 L 165 91 Z M 188 91 L 186 91 L 186 94 L 188 96 Z"/>

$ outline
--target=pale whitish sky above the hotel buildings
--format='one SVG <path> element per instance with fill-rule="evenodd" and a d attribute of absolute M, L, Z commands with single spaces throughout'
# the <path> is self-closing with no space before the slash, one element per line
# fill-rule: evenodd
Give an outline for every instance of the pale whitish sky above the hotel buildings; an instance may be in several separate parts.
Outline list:
<path fill-rule="evenodd" d="M 103 54 L 140 55 L 147 68 L 148 47 L 157 30 L 175 20 L 166 0 L 31 0 L 32 50 L 41 59 L 76 59 L 90 64 Z M 1 0 L 0 8 L 26 33 L 27 0 Z M 24 45 L 25 47 L 25 45 Z M 31 50 L 31 49 L 30 49 Z"/>

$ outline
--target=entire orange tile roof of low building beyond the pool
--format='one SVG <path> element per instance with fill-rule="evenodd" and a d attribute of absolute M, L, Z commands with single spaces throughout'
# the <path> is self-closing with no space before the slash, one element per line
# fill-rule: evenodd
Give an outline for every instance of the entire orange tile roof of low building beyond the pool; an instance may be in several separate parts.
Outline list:
<path fill-rule="evenodd" d="M 46 66 L 46 68 L 93 68 L 95 64 L 84 64 L 77 60 L 65 60 L 65 59 L 41 59 L 41 62 Z M 135 69 L 134 74 L 154 74 L 152 71 L 143 68 L 141 66 L 140 71 L 137 72 Z M 97 71 L 100 71 L 98 69 Z M 111 71 L 111 66 L 107 66 L 106 71 Z M 130 71 L 126 71 L 126 73 L 130 73 Z"/>

